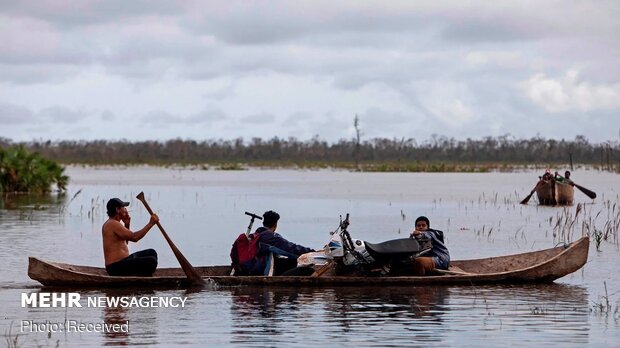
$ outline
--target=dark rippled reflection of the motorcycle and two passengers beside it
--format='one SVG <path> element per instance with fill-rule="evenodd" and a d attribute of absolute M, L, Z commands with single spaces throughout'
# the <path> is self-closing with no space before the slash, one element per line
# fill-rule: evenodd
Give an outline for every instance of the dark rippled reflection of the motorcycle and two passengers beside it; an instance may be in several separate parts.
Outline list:
<path fill-rule="evenodd" d="M 247 339 L 248 330 L 256 336 L 287 337 L 291 332 L 302 333 L 295 327 L 308 328 L 319 335 L 305 340 L 341 340 L 368 328 L 379 329 L 368 340 L 378 345 L 387 344 L 385 339 L 416 332 L 418 341 L 439 341 L 432 335 L 434 326 L 443 325 L 446 302 L 450 296 L 448 287 L 338 287 L 316 288 L 251 288 L 230 290 L 232 298 L 233 342 Z M 424 322 L 416 330 L 415 321 Z M 308 334 L 307 332 L 305 333 Z M 343 336 L 344 335 L 344 336 Z M 387 336 L 386 336 L 387 335 Z"/>

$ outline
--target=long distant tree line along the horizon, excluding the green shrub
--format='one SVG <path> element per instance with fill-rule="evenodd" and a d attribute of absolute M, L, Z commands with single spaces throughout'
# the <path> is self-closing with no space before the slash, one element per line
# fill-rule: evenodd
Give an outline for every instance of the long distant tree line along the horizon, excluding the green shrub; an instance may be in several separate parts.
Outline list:
<path fill-rule="evenodd" d="M 456 140 L 432 136 L 418 143 L 413 138 L 342 139 L 329 143 L 314 137 L 274 137 L 234 140 L 168 141 L 32 141 L 13 143 L 0 138 L 0 147 L 23 146 L 61 163 L 77 164 L 222 164 L 299 166 L 380 166 L 384 169 L 425 170 L 420 164 L 550 165 L 587 164 L 620 168 L 620 143 L 590 143 L 584 136 L 574 140 L 542 137 L 515 139 L 509 135 Z M 412 167 L 413 165 L 413 167 Z M 407 166 L 408 169 L 407 169 Z M 379 167 L 377 167 L 379 168 Z"/>

